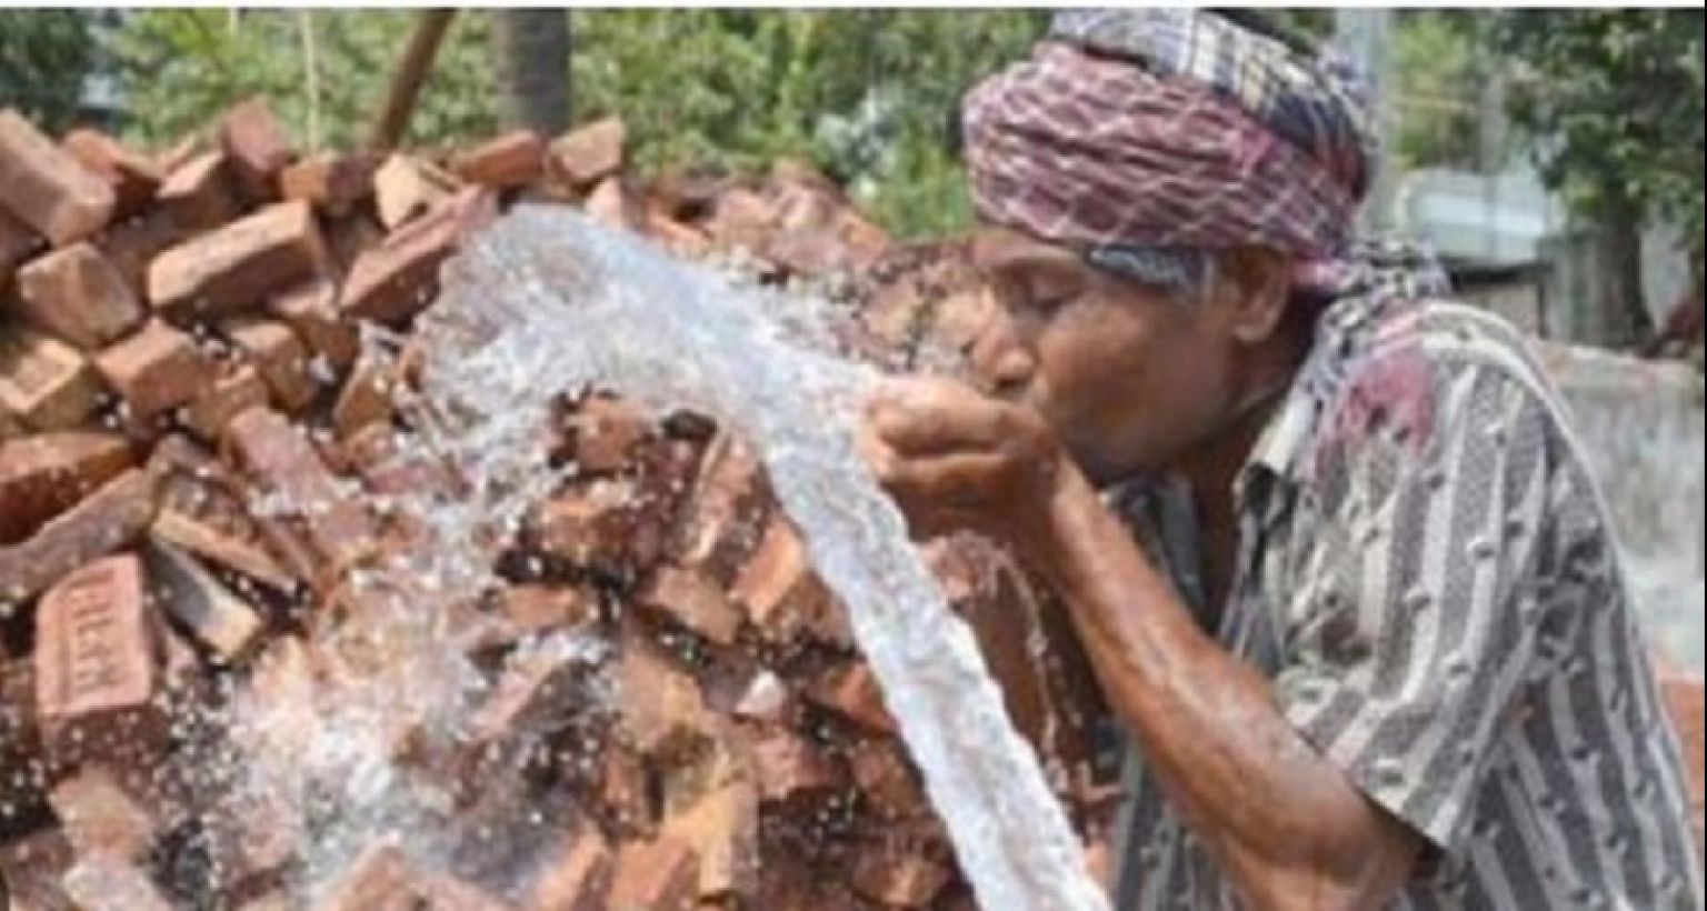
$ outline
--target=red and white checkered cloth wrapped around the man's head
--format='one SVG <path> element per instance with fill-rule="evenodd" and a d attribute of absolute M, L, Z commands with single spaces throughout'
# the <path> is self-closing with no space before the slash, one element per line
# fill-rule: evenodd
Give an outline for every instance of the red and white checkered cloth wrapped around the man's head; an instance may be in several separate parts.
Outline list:
<path fill-rule="evenodd" d="M 1304 290 L 1369 276 L 1352 232 L 1376 140 L 1331 55 L 1190 9 L 1067 12 L 963 116 L 978 215 L 1092 264 L 1186 285 L 1214 252 L 1263 246 Z"/>

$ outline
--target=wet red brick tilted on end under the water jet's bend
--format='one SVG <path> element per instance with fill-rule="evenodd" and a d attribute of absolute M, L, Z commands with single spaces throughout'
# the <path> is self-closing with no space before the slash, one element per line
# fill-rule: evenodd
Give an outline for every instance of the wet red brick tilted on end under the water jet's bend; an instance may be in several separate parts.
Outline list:
<path fill-rule="evenodd" d="M 719 435 L 705 452 L 693 493 L 683 507 L 676 561 L 729 587 L 758 546 L 768 486 L 753 450 Z"/>

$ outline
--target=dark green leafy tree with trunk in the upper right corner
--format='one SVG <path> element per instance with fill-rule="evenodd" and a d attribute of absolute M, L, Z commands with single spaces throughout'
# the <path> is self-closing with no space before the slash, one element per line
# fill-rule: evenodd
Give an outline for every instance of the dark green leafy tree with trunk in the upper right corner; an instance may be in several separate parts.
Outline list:
<path fill-rule="evenodd" d="M 1685 229 L 1702 258 L 1704 10 L 1509 10 L 1492 14 L 1494 53 L 1511 55 L 1512 121 L 1535 138 L 1541 177 L 1598 225 L 1601 338 L 1642 341 L 1640 232 Z"/>

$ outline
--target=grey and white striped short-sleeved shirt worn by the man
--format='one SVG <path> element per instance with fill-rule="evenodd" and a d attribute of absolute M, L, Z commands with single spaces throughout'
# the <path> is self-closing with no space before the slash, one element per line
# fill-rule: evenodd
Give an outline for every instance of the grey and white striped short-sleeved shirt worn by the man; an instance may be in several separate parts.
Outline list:
<path fill-rule="evenodd" d="M 1238 479 L 1219 607 L 1186 491 L 1111 505 L 1299 735 L 1425 839 L 1389 908 L 1698 911 L 1681 752 L 1558 394 L 1511 328 L 1451 304 L 1383 314 L 1340 357 L 1338 391 L 1296 382 Z M 1115 908 L 1239 908 L 1125 763 Z"/>

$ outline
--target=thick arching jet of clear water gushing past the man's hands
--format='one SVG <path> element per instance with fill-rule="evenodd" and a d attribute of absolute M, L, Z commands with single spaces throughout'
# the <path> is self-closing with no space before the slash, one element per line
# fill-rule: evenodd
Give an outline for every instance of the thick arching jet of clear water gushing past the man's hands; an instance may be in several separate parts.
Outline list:
<path fill-rule="evenodd" d="M 854 447 L 877 374 L 831 353 L 823 307 L 737 288 L 568 210 L 517 206 L 468 246 L 423 319 L 423 392 L 449 403 L 437 437 L 475 469 L 464 476 L 483 495 L 469 502 L 500 522 L 543 493 L 543 457 L 522 444 L 563 391 L 609 387 L 743 433 L 848 606 L 980 904 L 1108 908 L 971 631 Z M 471 565 L 457 572 L 473 572 L 475 551 L 461 551 Z"/>

